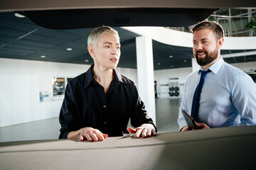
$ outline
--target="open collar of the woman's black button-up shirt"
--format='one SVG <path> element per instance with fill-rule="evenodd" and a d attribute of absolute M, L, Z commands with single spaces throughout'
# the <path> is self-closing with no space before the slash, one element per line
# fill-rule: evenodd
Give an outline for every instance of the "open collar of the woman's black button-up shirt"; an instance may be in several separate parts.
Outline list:
<path fill-rule="evenodd" d="M 87 88 L 87 86 L 90 85 L 90 83 L 95 80 L 95 78 L 93 77 L 93 72 L 92 69 L 94 67 L 94 64 L 92 64 L 92 66 L 87 70 L 87 72 L 85 72 L 85 85 L 84 88 Z M 124 83 L 123 79 L 122 79 L 122 75 L 119 74 L 119 72 L 117 72 L 115 69 L 113 69 L 114 71 L 114 78 L 113 78 L 113 82 L 114 84 L 120 84 L 120 82 Z"/>

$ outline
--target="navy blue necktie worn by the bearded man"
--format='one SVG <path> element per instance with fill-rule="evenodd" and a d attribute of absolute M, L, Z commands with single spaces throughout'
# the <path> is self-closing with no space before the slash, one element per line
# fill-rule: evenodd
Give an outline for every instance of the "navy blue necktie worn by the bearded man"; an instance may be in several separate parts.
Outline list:
<path fill-rule="evenodd" d="M 192 109 L 191 109 L 191 116 L 196 122 L 198 122 L 198 111 L 199 111 L 199 101 L 200 101 L 200 95 L 203 87 L 203 83 L 206 77 L 206 74 L 210 72 L 210 69 L 208 71 L 201 71 L 201 78 L 199 81 L 198 86 L 196 87 L 195 94 L 193 96 L 193 103 L 192 103 Z"/>

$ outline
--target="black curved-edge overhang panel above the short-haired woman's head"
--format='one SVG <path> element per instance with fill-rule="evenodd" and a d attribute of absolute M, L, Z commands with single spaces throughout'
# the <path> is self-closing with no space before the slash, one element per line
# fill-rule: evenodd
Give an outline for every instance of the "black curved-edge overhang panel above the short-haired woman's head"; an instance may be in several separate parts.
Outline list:
<path fill-rule="evenodd" d="M 33 23 L 56 30 L 97 26 L 192 26 L 216 8 L 90 8 L 23 11 Z"/>

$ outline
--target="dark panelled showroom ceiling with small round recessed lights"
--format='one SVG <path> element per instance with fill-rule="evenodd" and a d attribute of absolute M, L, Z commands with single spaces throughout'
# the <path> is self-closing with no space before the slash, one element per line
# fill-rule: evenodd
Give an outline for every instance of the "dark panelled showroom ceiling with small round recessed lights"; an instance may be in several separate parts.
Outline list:
<path fill-rule="evenodd" d="M 55 22 L 58 23 L 58 21 Z M 92 64 L 93 60 L 87 52 L 87 36 L 94 28 L 80 27 L 53 30 L 38 26 L 27 17 L 18 18 L 14 16 L 14 12 L 1 12 L 0 58 Z M 119 32 L 122 45 L 118 67 L 136 69 L 135 38 L 139 35 L 120 27 L 114 28 Z M 73 50 L 68 51 L 67 48 Z M 221 54 L 247 51 L 250 50 L 221 50 Z M 166 45 L 153 40 L 153 55 L 154 70 L 191 67 L 192 65 L 193 55 L 189 47 Z M 256 55 L 225 58 L 225 61 L 228 63 L 256 62 Z"/>

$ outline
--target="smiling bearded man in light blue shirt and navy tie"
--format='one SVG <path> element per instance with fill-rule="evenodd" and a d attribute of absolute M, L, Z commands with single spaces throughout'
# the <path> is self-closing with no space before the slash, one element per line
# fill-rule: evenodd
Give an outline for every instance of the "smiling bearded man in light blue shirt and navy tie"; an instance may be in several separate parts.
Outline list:
<path fill-rule="evenodd" d="M 193 55 L 201 67 L 186 79 L 179 130 L 190 130 L 182 109 L 196 120 L 199 129 L 256 125 L 256 84 L 220 56 L 223 28 L 213 21 L 203 21 L 191 32 Z"/>

